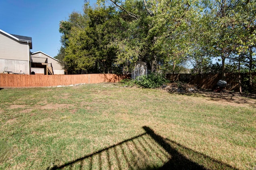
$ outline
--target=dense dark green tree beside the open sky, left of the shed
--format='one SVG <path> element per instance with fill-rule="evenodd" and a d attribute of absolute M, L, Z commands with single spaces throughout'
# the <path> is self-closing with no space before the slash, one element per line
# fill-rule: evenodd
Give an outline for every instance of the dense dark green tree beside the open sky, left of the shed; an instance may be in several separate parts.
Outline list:
<path fill-rule="evenodd" d="M 110 46 L 120 25 L 113 8 L 84 6 L 84 14 L 76 12 L 68 21 L 60 23 L 62 63 L 69 74 L 120 73 L 116 59 L 116 47 Z"/>

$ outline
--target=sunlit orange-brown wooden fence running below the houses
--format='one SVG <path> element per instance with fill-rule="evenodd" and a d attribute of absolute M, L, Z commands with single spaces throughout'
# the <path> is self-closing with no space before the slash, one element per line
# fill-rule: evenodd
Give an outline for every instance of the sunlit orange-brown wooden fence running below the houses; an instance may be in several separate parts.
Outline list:
<path fill-rule="evenodd" d="M 71 84 L 94 84 L 103 82 L 119 82 L 129 75 L 122 74 L 76 74 L 76 75 L 28 75 L 0 74 L 0 88 L 48 87 Z"/>

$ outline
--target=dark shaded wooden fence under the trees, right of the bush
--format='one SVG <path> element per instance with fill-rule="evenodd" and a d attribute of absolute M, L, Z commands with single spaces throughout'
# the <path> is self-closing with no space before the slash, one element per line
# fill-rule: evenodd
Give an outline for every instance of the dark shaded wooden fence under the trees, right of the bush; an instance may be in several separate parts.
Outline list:
<path fill-rule="evenodd" d="M 248 73 L 241 73 L 242 87 L 248 86 Z M 166 78 L 171 81 L 186 82 L 197 86 L 197 88 L 212 89 L 221 80 L 222 74 L 166 74 Z M 252 79 L 256 78 L 256 73 L 252 73 Z M 239 90 L 238 73 L 226 73 L 227 90 Z M 252 90 L 256 91 L 256 83 L 252 83 Z"/>

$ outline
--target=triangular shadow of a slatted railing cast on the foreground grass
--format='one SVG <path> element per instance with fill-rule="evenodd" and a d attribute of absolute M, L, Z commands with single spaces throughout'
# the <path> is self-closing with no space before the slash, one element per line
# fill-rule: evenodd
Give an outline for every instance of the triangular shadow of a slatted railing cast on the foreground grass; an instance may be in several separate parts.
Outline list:
<path fill-rule="evenodd" d="M 150 127 L 144 126 L 143 129 L 146 133 L 48 169 L 236 169 L 175 141 L 163 138 Z"/>

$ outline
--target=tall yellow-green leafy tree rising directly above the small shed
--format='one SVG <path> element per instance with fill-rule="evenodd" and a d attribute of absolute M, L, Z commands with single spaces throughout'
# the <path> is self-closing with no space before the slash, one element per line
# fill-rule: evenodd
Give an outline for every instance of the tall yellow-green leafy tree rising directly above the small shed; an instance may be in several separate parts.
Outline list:
<path fill-rule="evenodd" d="M 130 16 L 125 38 L 116 42 L 120 62 L 141 60 L 154 72 L 159 65 L 184 61 L 188 55 L 189 29 L 198 11 L 196 0 L 99 0 L 109 2 Z M 194 5 L 191 5 L 194 4 Z"/>

